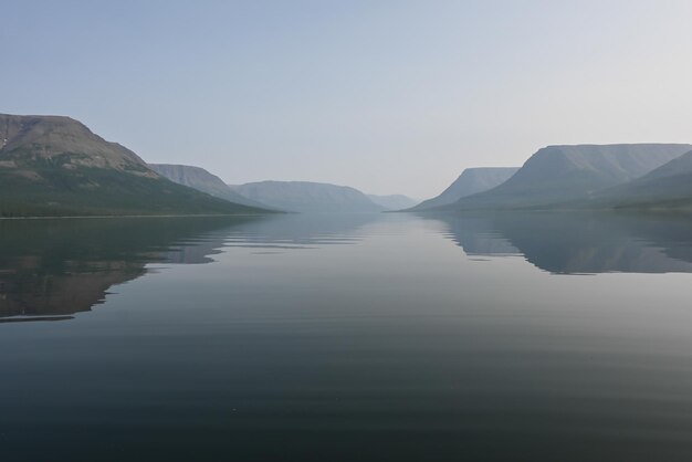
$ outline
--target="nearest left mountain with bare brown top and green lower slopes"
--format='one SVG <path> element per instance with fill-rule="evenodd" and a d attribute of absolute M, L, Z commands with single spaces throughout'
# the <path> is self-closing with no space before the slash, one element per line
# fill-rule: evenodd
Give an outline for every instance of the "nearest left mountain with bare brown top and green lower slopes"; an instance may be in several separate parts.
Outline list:
<path fill-rule="evenodd" d="M 0 216 L 259 211 L 161 178 L 72 118 L 0 114 Z"/>

